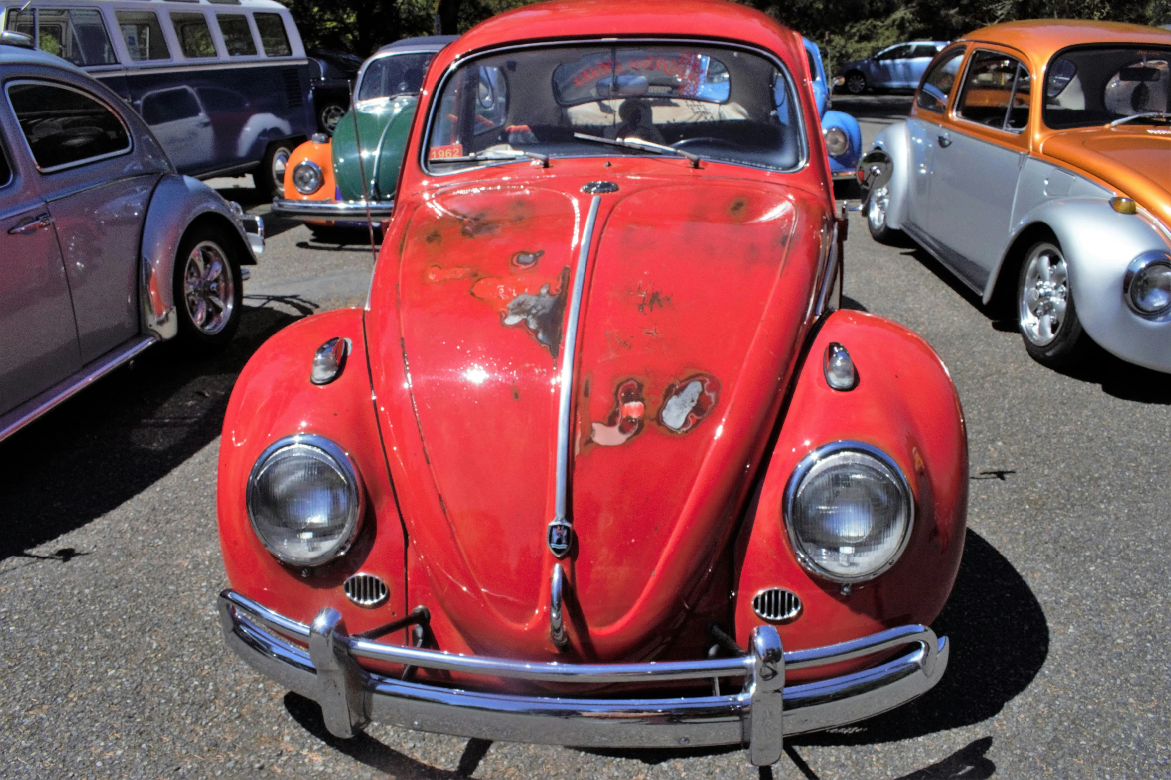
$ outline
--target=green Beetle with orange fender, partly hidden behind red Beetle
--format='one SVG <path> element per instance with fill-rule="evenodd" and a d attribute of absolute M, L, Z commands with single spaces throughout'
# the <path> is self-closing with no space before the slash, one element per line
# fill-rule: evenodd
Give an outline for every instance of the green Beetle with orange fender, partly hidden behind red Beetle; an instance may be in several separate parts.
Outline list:
<path fill-rule="evenodd" d="M 453 35 L 403 39 L 362 63 L 351 110 L 331 139 L 317 133 L 293 152 L 285 170 L 286 196 L 273 200 L 273 213 L 304 220 L 319 230 L 364 228 L 368 216 L 389 218 L 423 77 L 436 53 L 454 40 Z"/>

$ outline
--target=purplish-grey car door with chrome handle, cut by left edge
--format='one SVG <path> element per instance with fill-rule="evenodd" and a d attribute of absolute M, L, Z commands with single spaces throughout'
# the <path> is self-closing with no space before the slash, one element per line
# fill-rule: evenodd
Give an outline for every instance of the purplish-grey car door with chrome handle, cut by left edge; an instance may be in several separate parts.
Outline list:
<path fill-rule="evenodd" d="M 69 284 L 48 206 L 0 111 L 0 414 L 81 367 Z M 19 130 L 15 131 L 19 133 Z M 19 136 L 16 137 L 19 139 Z"/>

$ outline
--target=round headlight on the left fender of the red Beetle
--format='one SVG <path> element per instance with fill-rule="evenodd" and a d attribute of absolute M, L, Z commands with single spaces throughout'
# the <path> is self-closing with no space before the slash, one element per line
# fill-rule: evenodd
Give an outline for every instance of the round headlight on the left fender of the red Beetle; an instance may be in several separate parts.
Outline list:
<path fill-rule="evenodd" d="M 265 547 L 294 566 L 317 566 L 345 552 L 361 517 L 350 458 L 321 436 L 282 439 L 248 476 L 248 518 Z"/>

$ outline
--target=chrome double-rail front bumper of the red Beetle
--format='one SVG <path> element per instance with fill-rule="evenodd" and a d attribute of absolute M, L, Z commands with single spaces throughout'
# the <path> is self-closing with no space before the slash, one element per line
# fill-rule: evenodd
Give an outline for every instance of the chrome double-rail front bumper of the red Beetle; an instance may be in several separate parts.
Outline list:
<path fill-rule="evenodd" d="M 326 726 L 351 737 L 370 720 L 461 737 L 577 747 L 744 745 L 758 766 L 781 757 L 783 736 L 841 726 L 929 691 L 947 667 L 947 637 L 903 626 L 850 642 L 783 650 L 772 626 L 753 629 L 747 655 L 704 661 L 562 664 L 454 655 L 348 636 L 341 614 L 311 626 L 233 591 L 219 596 L 227 643 L 258 671 L 321 705 Z M 303 642 L 308 650 L 283 637 Z M 820 667 L 917 644 L 910 653 L 842 677 L 785 686 L 786 669 Z M 356 658 L 425 669 L 556 683 L 650 683 L 744 678 L 727 696 L 589 699 L 485 693 L 374 675 Z"/>

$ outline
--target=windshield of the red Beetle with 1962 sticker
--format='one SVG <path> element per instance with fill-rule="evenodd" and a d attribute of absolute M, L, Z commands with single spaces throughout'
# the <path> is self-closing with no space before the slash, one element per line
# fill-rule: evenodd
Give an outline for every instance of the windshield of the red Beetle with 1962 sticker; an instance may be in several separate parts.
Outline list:
<path fill-rule="evenodd" d="M 427 167 L 444 173 L 527 153 L 698 156 L 792 170 L 802 144 L 789 83 L 763 56 L 715 47 L 488 55 L 444 83 Z"/>

